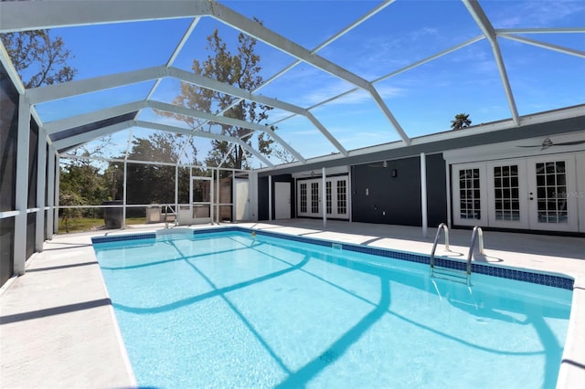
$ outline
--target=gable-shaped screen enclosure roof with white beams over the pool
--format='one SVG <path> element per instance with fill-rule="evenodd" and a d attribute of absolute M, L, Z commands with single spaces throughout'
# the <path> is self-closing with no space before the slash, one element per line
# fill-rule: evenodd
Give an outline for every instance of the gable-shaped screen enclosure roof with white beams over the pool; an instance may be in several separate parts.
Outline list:
<path fill-rule="evenodd" d="M 473 123 L 497 121 L 481 131 L 534 124 L 530 115 L 545 110 L 582 116 L 583 107 L 564 109 L 584 102 L 583 20 L 581 2 L 0 2 L 0 33 L 50 28 L 76 56 L 77 79 L 26 90 L 56 150 L 113 134 L 111 156 L 127 156 L 133 137 L 170 131 L 200 151 L 210 139 L 241 145 L 256 168 L 281 162 L 219 126 L 189 127 L 168 114 L 264 132 L 288 152 L 287 166 L 299 167 L 427 142 L 420 137 L 448 130 L 461 112 Z M 258 40 L 260 87 L 190 69 L 209 55 L 215 28 L 232 51 L 239 32 Z M 4 48 L 0 59 L 14 78 Z M 182 82 L 272 110 L 251 122 L 179 106 Z M 170 162 L 190 160 L 178 158 Z"/>

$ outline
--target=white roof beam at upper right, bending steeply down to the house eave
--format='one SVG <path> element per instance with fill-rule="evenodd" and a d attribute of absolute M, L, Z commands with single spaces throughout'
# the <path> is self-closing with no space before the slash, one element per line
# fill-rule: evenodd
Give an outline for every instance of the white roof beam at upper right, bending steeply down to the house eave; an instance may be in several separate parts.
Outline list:
<path fill-rule="evenodd" d="M 505 98 L 508 101 L 508 107 L 512 114 L 512 120 L 516 123 L 516 126 L 520 125 L 520 117 L 518 115 L 518 109 L 516 108 L 516 101 L 514 100 L 514 94 L 510 87 L 510 80 L 508 79 L 507 72 L 505 71 L 504 59 L 502 58 L 502 52 L 500 51 L 500 45 L 497 43 L 497 37 L 495 35 L 494 26 L 485 16 L 484 9 L 477 2 L 477 0 L 462 0 L 463 5 L 467 8 L 473 20 L 477 26 L 480 27 L 484 36 L 490 42 L 492 52 L 494 53 L 495 64 L 497 65 L 498 72 L 500 73 L 500 79 L 505 91 Z"/>

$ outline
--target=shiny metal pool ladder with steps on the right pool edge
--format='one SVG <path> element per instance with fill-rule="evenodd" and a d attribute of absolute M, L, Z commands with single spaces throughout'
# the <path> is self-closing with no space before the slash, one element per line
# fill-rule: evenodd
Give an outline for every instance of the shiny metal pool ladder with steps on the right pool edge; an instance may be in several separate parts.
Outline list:
<path fill-rule="evenodd" d="M 435 264 L 435 250 L 437 249 L 437 243 L 439 242 L 441 231 L 445 232 L 445 249 L 449 251 L 449 228 L 445 226 L 444 223 L 441 223 L 437 228 L 437 235 L 435 236 L 435 241 L 432 244 L 431 277 L 438 279 L 450 279 L 452 281 L 463 282 L 467 284 L 467 286 L 471 286 L 473 247 L 475 246 L 475 240 L 477 240 L 478 236 L 479 252 L 480 254 L 484 254 L 484 232 L 482 231 L 482 228 L 480 226 L 473 227 L 472 242 L 469 247 L 469 252 L 467 253 L 467 265 L 464 272 L 463 270 L 457 268 L 447 268 Z"/>

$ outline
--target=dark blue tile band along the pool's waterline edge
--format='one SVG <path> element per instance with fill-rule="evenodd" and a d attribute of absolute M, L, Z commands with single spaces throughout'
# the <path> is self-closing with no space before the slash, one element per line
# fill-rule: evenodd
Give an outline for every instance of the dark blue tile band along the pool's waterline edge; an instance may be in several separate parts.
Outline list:
<path fill-rule="evenodd" d="M 292 234 L 285 234 L 282 232 L 271 232 L 271 231 L 264 231 L 249 227 L 243 226 L 220 226 L 220 227 L 213 227 L 213 228 L 197 228 L 193 229 L 193 235 L 201 235 L 201 234 L 209 234 L 209 233 L 218 233 L 218 232 L 229 232 L 229 231 L 236 231 L 236 232 L 244 232 L 244 233 L 256 233 L 257 235 L 262 235 L 266 237 L 284 237 L 289 240 L 314 244 L 317 246 L 322 247 L 333 247 L 333 245 L 337 245 L 336 247 L 341 248 L 342 250 L 347 251 L 354 251 L 363 254 L 370 254 L 375 255 L 378 257 L 383 258 L 395 258 L 399 260 L 405 260 L 409 262 L 416 262 L 421 264 L 430 264 L 430 257 L 424 254 L 417 254 L 407 251 L 400 251 L 390 248 L 384 247 L 369 247 L 363 246 L 353 243 L 344 243 L 338 242 L 334 240 L 328 239 L 321 239 L 317 237 L 301 237 L 298 235 Z M 181 232 L 183 233 L 183 232 Z M 165 235 L 171 235 L 165 234 Z M 152 233 L 138 233 L 138 234 L 124 234 L 124 235 L 112 235 L 108 237 L 91 237 L 92 244 L 100 244 L 100 243 L 109 243 L 109 242 L 121 242 L 121 241 L 133 241 L 133 240 L 140 240 L 140 239 L 150 239 L 157 237 L 155 232 Z M 435 257 L 435 263 L 438 266 L 444 268 L 453 268 L 457 270 L 464 270 L 466 266 L 466 261 L 463 259 L 457 258 L 444 258 L 444 257 Z M 496 277 L 500 279 L 512 279 L 516 281 L 523 281 L 537 285 L 544 285 L 548 287 L 558 288 L 558 289 L 568 289 L 573 290 L 575 279 L 560 275 L 560 274 L 551 274 L 550 272 L 539 272 L 537 270 L 527 270 L 527 269 L 519 269 L 519 268 L 510 268 L 501 265 L 495 264 L 480 264 L 472 261 L 472 273 L 475 274 L 482 274 L 485 276 Z"/>

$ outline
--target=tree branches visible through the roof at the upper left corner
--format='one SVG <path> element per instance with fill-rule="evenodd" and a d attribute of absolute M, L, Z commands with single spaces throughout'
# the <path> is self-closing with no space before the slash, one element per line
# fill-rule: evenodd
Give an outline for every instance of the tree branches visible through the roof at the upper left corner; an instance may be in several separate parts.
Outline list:
<path fill-rule="evenodd" d="M 63 38 L 52 38 L 50 30 L 6 33 L 2 43 L 27 89 L 67 82 L 77 73 L 67 65 L 73 56 Z"/>

